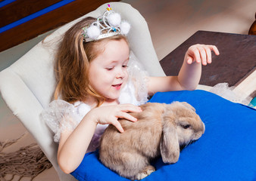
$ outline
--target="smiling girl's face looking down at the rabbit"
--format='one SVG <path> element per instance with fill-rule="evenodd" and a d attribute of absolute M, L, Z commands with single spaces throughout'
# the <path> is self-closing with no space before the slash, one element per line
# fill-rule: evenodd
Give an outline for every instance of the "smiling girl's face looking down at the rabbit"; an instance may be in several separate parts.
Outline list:
<path fill-rule="evenodd" d="M 105 50 L 89 63 L 89 81 L 106 101 L 114 101 L 128 79 L 129 47 L 124 40 L 108 41 Z"/>

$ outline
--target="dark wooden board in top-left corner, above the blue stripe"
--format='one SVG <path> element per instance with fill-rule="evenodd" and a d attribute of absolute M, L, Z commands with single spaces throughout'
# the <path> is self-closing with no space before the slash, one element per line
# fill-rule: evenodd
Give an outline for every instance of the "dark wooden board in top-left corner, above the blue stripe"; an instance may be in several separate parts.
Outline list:
<path fill-rule="evenodd" d="M 57 2 L 61 2 L 61 0 L 16 0 L 0 8 L 0 27 L 27 17 Z"/>

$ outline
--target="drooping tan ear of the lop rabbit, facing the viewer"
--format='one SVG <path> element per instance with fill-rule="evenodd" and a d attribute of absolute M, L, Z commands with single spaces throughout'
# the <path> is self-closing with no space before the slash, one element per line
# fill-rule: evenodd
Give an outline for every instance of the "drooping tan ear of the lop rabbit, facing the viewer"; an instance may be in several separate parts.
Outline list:
<path fill-rule="evenodd" d="M 165 164 L 173 164 L 179 160 L 180 144 L 176 129 L 172 123 L 165 124 L 160 143 L 161 156 Z"/>

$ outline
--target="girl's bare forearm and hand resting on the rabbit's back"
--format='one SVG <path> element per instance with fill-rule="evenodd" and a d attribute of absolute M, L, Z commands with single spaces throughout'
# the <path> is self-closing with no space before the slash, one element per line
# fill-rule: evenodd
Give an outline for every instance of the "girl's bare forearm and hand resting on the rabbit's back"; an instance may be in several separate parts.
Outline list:
<path fill-rule="evenodd" d="M 113 124 L 117 130 L 123 132 L 118 118 L 136 121 L 136 118 L 126 112 L 141 112 L 138 106 L 131 104 L 101 106 L 88 112 L 75 130 L 61 133 L 58 146 L 58 164 L 64 173 L 71 173 L 83 161 L 89 143 L 97 124 Z"/>

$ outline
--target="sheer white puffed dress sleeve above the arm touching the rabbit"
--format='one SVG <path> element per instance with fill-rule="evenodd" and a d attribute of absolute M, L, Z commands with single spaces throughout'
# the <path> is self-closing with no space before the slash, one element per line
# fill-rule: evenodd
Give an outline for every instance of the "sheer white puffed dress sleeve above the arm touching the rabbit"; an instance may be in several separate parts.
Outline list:
<path fill-rule="evenodd" d="M 74 106 L 64 100 L 54 100 L 42 111 L 40 118 L 55 133 L 55 142 L 59 142 L 61 133 L 74 130 L 87 112 L 89 111 L 83 111 L 81 114 L 80 105 Z"/>

